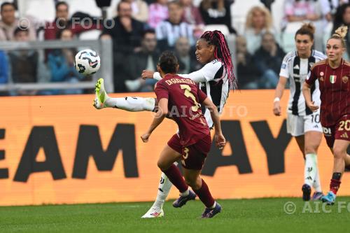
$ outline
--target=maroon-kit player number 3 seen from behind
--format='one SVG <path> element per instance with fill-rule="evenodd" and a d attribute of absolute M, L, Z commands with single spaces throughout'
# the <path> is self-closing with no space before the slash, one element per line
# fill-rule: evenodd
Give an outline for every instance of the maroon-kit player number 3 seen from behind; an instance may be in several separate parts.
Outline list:
<path fill-rule="evenodd" d="M 212 218 L 221 212 L 221 206 L 215 202 L 207 184 L 200 178 L 205 158 L 211 147 L 209 126 L 200 104 L 204 104 L 210 111 L 214 122 L 216 146 L 222 149 L 225 146 L 225 137 L 221 132 L 218 110 L 193 80 L 176 75 L 179 63 L 172 52 L 163 52 L 157 67 L 162 76 L 162 80 L 158 81 L 155 87 L 158 112 L 151 127 L 141 139 L 147 142 L 166 116 L 176 122 L 179 133 L 174 134 L 162 150 L 158 167 L 181 192 L 176 202 L 186 204 L 190 199 L 195 199 L 197 194 L 206 206 L 202 218 Z M 179 159 L 183 165 L 185 180 L 174 164 Z M 189 190 L 188 185 L 194 192 Z"/>

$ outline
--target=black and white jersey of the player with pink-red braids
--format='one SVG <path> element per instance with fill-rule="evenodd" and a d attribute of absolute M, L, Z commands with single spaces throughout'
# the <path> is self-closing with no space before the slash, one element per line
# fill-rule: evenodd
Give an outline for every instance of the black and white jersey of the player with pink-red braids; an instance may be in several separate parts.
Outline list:
<path fill-rule="evenodd" d="M 198 71 L 188 74 L 179 74 L 179 76 L 183 78 L 190 78 L 195 83 L 199 83 L 200 89 L 207 94 L 211 101 L 213 101 L 215 106 L 218 108 L 218 112 L 223 112 L 223 106 L 228 99 L 230 87 L 228 75 L 222 62 L 215 59 L 207 63 Z M 161 77 L 158 72 L 155 72 L 153 78 L 160 80 Z M 213 127 L 214 123 L 211 119 L 210 112 L 207 111 L 207 109 L 202 108 L 202 113 L 204 114 L 209 127 Z"/>

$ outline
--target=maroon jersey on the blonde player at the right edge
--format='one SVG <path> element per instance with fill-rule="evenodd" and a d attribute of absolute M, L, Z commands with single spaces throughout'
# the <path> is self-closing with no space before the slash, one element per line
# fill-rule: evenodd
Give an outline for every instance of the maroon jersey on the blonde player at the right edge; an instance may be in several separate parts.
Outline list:
<path fill-rule="evenodd" d="M 321 91 L 321 125 L 336 125 L 344 115 L 350 113 L 350 64 L 342 59 L 341 65 L 332 69 L 328 59 L 317 62 L 311 68 L 307 80 L 314 85 L 318 79 Z"/>

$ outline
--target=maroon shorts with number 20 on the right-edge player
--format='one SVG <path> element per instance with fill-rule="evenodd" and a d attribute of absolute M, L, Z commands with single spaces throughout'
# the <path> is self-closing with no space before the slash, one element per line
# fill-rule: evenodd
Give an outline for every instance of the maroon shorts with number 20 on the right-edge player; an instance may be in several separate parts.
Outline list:
<path fill-rule="evenodd" d="M 342 116 L 335 125 L 323 127 L 323 135 L 330 148 L 335 140 L 350 141 L 350 115 Z"/>

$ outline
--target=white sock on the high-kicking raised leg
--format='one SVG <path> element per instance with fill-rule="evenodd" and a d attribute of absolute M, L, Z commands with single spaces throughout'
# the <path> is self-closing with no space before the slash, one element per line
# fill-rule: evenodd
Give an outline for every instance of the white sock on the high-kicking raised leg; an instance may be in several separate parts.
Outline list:
<path fill-rule="evenodd" d="M 155 99 L 143 97 L 109 98 L 106 99 L 104 105 L 107 108 L 120 108 L 130 112 L 153 111 Z"/>

